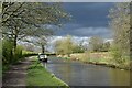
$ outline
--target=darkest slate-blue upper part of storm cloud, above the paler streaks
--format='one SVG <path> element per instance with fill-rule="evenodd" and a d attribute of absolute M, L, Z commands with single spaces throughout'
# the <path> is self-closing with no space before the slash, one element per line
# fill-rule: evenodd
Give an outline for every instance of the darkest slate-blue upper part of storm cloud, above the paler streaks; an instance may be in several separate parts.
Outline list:
<path fill-rule="evenodd" d="M 73 22 L 87 26 L 106 26 L 109 9 L 112 3 L 64 3 L 64 8 L 72 13 Z"/>

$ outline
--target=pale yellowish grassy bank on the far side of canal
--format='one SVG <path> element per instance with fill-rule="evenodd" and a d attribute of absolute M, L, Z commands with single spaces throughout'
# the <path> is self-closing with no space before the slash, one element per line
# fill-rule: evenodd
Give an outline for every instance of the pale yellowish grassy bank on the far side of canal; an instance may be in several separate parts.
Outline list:
<path fill-rule="evenodd" d="M 63 57 L 65 58 L 65 57 Z M 112 58 L 111 54 L 106 52 L 101 53 L 77 53 L 70 55 L 72 61 L 80 61 L 87 64 L 95 64 L 95 65 L 101 65 L 112 68 L 120 68 L 120 69 L 131 69 L 130 68 L 130 59 L 125 59 L 122 63 L 117 63 L 114 58 Z M 132 63 L 132 62 L 131 62 Z"/>

